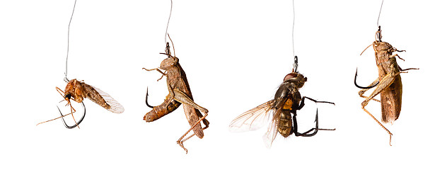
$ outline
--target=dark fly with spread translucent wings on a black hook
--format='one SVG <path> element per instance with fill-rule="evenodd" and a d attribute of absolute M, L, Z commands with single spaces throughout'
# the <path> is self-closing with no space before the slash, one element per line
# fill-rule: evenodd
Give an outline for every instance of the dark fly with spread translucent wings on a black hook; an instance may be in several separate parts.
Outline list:
<path fill-rule="evenodd" d="M 283 137 L 295 136 L 311 137 L 316 135 L 318 130 L 335 130 L 318 128 L 318 110 L 315 115 L 315 128 L 300 133 L 298 132 L 298 123 L 296 121 L 296 111 L 304 106 L 304 99 L 307 98 L 315 103 L 330 103 L 328 101 L 316 101 L 313 98 L 301 96 L 299 89 L 304 86 L 307 77 L 293 71 L 284 77 L 284 81 L 279 86 L 274 99 L 267 101 L 250 111 L 242 113 L 231 121 L 229 128 L 232 132 L 245 132 L 248 130 L 257 130 L 267 123 L 267 118 L 272 115 L 267 132 L 263 139 L 266 147 L 271 147 L 277 133 Z M 293 116 L 292 116 L 293 115 Z"/>

